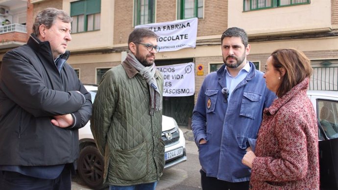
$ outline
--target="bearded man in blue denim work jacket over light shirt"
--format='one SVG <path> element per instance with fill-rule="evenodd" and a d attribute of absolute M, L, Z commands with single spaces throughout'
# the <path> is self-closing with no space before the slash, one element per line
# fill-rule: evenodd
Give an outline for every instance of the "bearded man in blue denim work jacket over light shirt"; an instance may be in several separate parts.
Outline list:
<path fill-rule="evenodd" d="M 224 65 L 206 76 L 193 110 L 201 184 L 203 190 L 247 190 L 250 168 L 241 159 L 276 96 L 266 89 L 263 72 L 246 61 L 250 45 L 243 29 L 228 28 L 221 46 Z"/>

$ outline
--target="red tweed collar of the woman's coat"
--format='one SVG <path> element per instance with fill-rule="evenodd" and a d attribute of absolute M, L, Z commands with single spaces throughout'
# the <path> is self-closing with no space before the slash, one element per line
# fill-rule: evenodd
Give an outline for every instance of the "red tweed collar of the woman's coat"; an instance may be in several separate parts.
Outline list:
<path fill-rule="evenodd" d="M 282 106 L 284 106 L 287 102 L 289 102 L 295 96 L 297 95 L 306 96 L 306 91 L 308 90 L 308 87 L 309 87 L 309 81 L 310 81 L 309 78 L 305 78 L 302 82 L 294 86 L 285 95 L 275 99 L 272 102 L 271 106 L 264 110 L 264 113 L 267 115 L 275 115 Z"/>

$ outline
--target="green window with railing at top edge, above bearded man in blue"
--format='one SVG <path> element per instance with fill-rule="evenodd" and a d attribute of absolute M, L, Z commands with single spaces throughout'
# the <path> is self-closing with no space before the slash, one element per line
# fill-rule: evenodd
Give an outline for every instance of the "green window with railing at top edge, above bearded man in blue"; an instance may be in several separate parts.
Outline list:
<path fill-rule="evenodd" d="M 310 0 L 244 0 L 244 11 L 288 5 L 308 4 Z"/>

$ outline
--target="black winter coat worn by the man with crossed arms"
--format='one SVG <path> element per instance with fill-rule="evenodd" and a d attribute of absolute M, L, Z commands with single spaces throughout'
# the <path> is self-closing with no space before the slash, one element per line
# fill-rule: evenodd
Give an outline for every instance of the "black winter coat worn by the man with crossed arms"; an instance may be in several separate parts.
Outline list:
<path fill-rule="evenodd" d="M 69 52 L 61 55 L 67 60 Z M 76 92 L 79 91 L 80 93 Z M 53 116 L 72 114 L 74 126 L 60 128 Z M 59 72 L 49 42 L 32 34 L 8 51 L 0 70 L 0 165 L 50 166 L 78 157 L 78 128 L 92 114 L 91 95 L 65 63 Z"/>

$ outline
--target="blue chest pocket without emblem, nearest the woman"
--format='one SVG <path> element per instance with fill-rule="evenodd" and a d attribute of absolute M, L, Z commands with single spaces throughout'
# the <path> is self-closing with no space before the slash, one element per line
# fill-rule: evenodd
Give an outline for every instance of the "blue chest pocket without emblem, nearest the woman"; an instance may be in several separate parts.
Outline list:
<path fill-rule="evenodd" d="M 240 115 L 255 119 L 255 115 L 257 115 L 257 108 L 260 108 L 260 101 L 262 99 L 262 95 L 253 93 L 253 92 L 244 92 L 242 103 L 241 103 L 241 111 Z"/>

